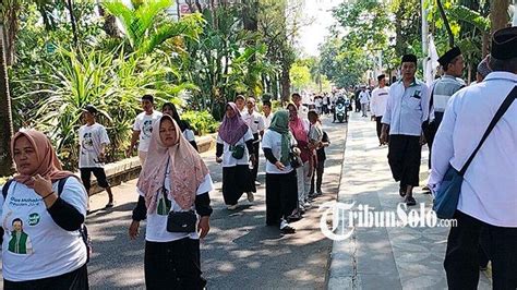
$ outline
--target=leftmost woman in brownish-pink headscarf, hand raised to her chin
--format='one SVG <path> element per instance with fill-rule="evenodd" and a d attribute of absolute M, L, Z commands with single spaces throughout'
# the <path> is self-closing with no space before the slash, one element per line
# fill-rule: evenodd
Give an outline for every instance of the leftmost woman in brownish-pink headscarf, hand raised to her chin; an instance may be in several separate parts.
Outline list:
<path fill-rule="evenodd" d="M 0 195 L 3 289 L 88 289 L 83 184 L 41 132 L 17 132 L 11 152 L 17 174 Z"/>

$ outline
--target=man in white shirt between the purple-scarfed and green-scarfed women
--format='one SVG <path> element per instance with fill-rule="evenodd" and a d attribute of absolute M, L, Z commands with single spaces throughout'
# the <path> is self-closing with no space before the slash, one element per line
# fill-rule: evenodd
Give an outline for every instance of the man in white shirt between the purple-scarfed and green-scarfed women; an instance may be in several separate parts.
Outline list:
<path fill-rule="evenodd" d="M 252 160 L 253 169 L 251 170 L 251 176 L 255 185 L 261 185 L 261 183 L 256 180 L 256 176 L 258 174 L 258 148 L 261 143 L 261 135 L 264 134 L 264 119 L 262 116 L 255 111 L 255 99 L 252 97 L 248 98 L 247 101 L 247 110 L 242 113 L 242 120 L 244 123 L 248 124 L 250 128 L 251 133 L 253 134 L 253 153 L 255 158 Z"/>

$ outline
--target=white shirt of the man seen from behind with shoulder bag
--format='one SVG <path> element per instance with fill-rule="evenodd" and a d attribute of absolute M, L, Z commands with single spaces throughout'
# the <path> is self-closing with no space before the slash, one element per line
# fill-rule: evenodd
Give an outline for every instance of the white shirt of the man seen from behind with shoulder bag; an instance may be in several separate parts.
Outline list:
<path fill-rule="evenodd" d="M 450 165 L 460 170 L 481 141 L 517 74 L 492 72 L 449 99 L 433 143 L 430 188 Z M 514 100 L 464 176 L 458 209 L 497 227 L 517 227 L 517 102 Z"/>

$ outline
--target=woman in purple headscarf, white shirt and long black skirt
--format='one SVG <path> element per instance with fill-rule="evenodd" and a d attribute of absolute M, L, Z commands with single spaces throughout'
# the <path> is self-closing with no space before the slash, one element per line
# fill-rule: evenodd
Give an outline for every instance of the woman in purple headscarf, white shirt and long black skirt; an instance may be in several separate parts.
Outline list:
<path fill-rule="evenodd" d="M 245 192 L 253 202 L 256 192 L 249 162 L 255 160 L 253 134 L 242 120 L 235 102 L 226 105 L 226 114 L 217 135 L 216 160 L 223 162 L 223 196 L 229 210 L 235 210 Z M 250 154 L 251 153 L 251 154 Z"/>

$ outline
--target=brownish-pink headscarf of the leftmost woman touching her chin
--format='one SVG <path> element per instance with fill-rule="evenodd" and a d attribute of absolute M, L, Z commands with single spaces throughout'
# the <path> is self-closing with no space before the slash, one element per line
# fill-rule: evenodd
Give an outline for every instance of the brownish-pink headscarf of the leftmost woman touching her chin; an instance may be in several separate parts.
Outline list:
<path fill-rule="evenodd" d="M 32 173 L 32 176 L 19 173 L 14 177 L 15 181 L 23 183 L 27 185 L 27 188 L 32 189 L 34 186 L 34 181 L 32 178 L 36 174 L 41 176 L 41 178 L 44 179 L 50 179 L 52 182 L 56 182 L 67 177 L 75 177 L 74 173 L 70 171 L 64 171 L 62 169 L 61 162 L 59 161 L 58 156 L 56 155 L 50 140 L 48 140 L 48 137 L 44 133 L 33 129 L 20 131 L 14 134 L 14 137 L 11 140 L 12 156 L 14 156 L 14 145 L 16 143 L 16 140 L 22 136 L 25 136 L 31 143 L 31 145 L 33 145 L 39 166 L 36 171 Z"/>

